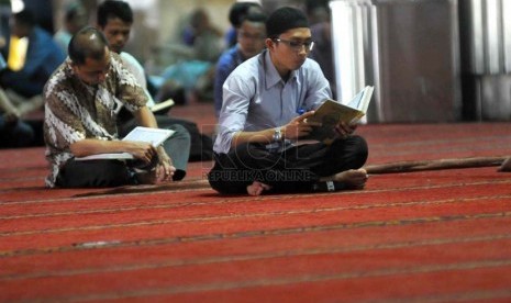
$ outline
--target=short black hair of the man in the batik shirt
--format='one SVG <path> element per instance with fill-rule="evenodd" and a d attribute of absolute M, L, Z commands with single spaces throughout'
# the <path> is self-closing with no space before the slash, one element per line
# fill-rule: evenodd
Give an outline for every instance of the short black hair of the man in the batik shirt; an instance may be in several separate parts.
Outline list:
<path fill-rule="evenodd" d="M 87 58 L 102 59 L 108 46 L 107 37 L 100 30 L 86 26 L 71 37 L 67 52 L 75 65 L 84 65 Z"/>

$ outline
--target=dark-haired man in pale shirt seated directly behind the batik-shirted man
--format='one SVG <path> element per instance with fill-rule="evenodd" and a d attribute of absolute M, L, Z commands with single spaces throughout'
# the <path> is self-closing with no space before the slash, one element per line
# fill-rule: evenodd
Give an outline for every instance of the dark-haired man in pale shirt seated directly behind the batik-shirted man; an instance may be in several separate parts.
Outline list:
<path fill-rule="evenodd" d="M 120 54 L 124 66 L 135 76 L 138 83 L 143 87 L 148 100 L 147 105 L 151 108 L 155 102 L 147 91 L 147 80 L 144 68 L 130 53 L 123 52 L 130 38 L 130 32 L 133 25 L 133 11 L 130 4 L 119 0 L 107 0 L 98 7 L 97 21 L 98 27 L 103 32 L 110 44 L 110 49 Z M 168 116 L 166 112 L 163 114 L 155 114 L 155 117 L 158 125 L 163 128 L 179 124 L 190 133 L 190 160 L 210 160 L 212 158 L 212 139 L 202 135 L 196 123 Z M 118 123 L 121 136 L 124 136 L 137 125 L 133 114 L 125 109 L 121 110 Z"/>

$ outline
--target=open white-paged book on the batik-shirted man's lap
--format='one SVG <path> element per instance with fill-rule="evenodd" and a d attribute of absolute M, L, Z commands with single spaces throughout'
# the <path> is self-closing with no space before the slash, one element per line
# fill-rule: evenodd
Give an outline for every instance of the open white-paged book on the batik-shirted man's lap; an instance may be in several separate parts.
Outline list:
<path fill-rule="evenodd" d="M 122 141 L 138 141 L 151 143 L 154 147 L 163 144 L 175 132 L 173 130 L 160 130 L 136 126 Z M 130 153 L 96 154 L 86 157 L 76 157 L 75 160 L 97 160 L 97 159 L 134 159 Z"/>

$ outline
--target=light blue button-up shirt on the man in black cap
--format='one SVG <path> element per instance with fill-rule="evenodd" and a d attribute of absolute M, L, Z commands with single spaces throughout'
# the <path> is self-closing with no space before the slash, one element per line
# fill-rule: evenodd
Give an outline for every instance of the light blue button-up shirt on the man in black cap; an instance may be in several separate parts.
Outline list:
<path fill-rule="evenodd" d="M 329 81 L 318 63 L 307 58 L 285 82 L 269 52 L 264 50 L 241 64 L 225 80 L 213 150 L 226 154 L 235 133 L 286 125 L 300 110 L 315 110 L 331 98 Z"/>

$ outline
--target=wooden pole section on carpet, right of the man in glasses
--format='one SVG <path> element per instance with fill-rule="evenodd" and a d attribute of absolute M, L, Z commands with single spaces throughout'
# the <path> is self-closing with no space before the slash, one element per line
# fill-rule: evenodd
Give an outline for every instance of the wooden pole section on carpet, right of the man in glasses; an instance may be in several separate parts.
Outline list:
<path fill-rule="evenodd" d="M 455 158 L 440 160 L 422 160 L 422 161 L 399 161 L 382 165 L 369 165 L 364 167 L 367 173 L 397 173 L 412 172 L 423 170 L 440 170 L 440 169 L 457 169 L 457 168 L 476 168 L 501 166 L 510 156 L 501 157 L 476 157 L 476 158 Z M 502 165 L 504 167 L 506 165 Z M 508 171 L 502 169 L 502 171 Z"/>

